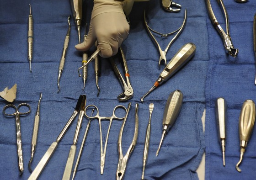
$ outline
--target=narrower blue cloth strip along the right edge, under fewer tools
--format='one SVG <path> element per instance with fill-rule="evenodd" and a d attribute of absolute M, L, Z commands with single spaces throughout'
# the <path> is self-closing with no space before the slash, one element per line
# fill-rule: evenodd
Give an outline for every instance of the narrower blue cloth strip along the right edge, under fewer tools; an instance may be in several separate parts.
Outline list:
<path fill-rule="evenodd" d="M 230 36 L 235 48 L 239 49 L 236 58 L 225 53 L 222 39 L 207 18 L 209 34 L 209 67 L 206 80 L 206 165 L 205 179 L 221 180 L 252 180 L 256 178 L 256 132 L 245 151 L 239 173 L 235 165 L 240 159 L 239 116 L 245 100 L 255 99 L 255 58 L 253 52 L 253 18 L 255 1 L 249 0 L 245 4 L 238 4 L 234 0 L 224 1 L 229 15 Z M 213 11 L 220 25 L 225 30 L 225 22 L 220 8 L 212 0 Z M 215 12 L 216 11 L 216 12 Z M 217 14 L 218 12 L 218 14 Z M 222 152 L 219 144 L 215 101 L 224 97 L 227 101 L 226 126 L 226 166 L 222 165 Z"/>

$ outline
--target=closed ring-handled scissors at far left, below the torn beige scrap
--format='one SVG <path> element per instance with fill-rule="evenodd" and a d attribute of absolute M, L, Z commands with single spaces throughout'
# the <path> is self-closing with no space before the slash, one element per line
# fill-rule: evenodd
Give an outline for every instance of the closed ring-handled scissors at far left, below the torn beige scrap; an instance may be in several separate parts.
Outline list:
<path fill-rule="evenodd" d="M 27 106 L 29 108 L 29 110 L 27 112 L 20 112 L 19 109 L 21 106 Z M 14 108 L 15 112 L 12 114 L 8 114 L 6 109 L 9 108 Z M 19 172 L 20 175 L 22 175 L 23 173 L 23 157 L 22 157 L 22 144 L 21 144 L 21 122 L 20 122 L 20 115 L 26 115 L 29 114 L 31 111 L 30 106 L 27 103 L 21 103 L 19 104 L 18 107 L 14 106 L 14 105 L 6 105 L 3 109 L 3 113 L 5 114 L 5 116 L 15 116 L 16 119 L 16 136 L 17 136 L 17 151 L 18 151 L 18 160 L 19 160 Z"/>

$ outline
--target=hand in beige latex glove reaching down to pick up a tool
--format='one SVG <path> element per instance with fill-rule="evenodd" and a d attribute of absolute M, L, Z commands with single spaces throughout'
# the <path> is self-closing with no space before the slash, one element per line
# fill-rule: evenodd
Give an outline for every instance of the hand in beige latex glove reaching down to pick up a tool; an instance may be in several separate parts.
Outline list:
<path fill-rule="evenodd" d="M 80 51 L 89 50 L 97 40 L 101 57 L 108 58 L 117 54 L 130 28 L 123 12 L 124 3 L 117 0 L 94 0 L 88 36 L 75 48 Z"/>

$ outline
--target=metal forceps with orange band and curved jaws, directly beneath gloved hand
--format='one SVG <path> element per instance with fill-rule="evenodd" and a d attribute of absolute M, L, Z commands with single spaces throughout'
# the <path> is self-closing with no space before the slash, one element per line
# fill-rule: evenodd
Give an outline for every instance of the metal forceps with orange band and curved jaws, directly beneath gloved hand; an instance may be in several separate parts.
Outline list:
<path fill-rule="evenodd" d="M 120 50 L 120 53 L 122 56 L 123 69 L 125 71 L 124 73 L 125 73 L 127 83 L 124 81 L 124 79 L 117 67 L 117 64 L 115 63 L 115 60 L 112 57 L 109 58 L 109 60 L 113 67 L 113 70 L 114 70 L 115 74 L 117 75 L 117 78 L 121 82 L 123 90 L 124 90 L 123 93 L 121 93 L 120 95 L 117 96 L 117 99 L 118 99 L 118 101 L 128 101 L 129 99 L 131 99 L 133 97 L 133 88 L 130 83 L 130 79 L 129 79 L 130 74 L 129 74 L 129 70 L 128 70 L 127 61 L 126 61 L 126 58 L 123 53 L 123 49 L 120 47 L 119 50 Z"/>

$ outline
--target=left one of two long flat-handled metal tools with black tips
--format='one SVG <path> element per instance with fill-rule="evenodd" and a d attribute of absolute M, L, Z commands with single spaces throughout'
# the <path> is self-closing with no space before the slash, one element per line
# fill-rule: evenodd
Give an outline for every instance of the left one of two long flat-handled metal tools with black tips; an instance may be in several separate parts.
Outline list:
<path fill-rule="evenodd" d="M 72 122 L 75 120 L 75 117 L 77 116 L 77 114 L 78 114 L 78 112 L 80 110 L 80 106 L 81 106 L 81 104 L 83 102 L 85 102 L 85 100 L 86 100 L 86 96 L 85 95 L 80 95 L 79 96 L 79 99 L 78 99 L 78 101 L 76 103 L 76 106 L 75 106 L 75 111 L 73 112 L 73 114 L 69 118 L 69 121 L 66 123 L 66 125 L 64 126 L 64 128 L 60 132 L 60 134 L 59 134 L 58 138 L 56 139 L 56 141 L 54 141 L 51 144 L 51 146 L 48 148 L 46 153 L 43 155 L 43 158 L 37 164 L 37 167 L 34 169 L 32 174 L 29 176 L 28 180 L 37 180 L 39 178 L 39 176 L 43 172 L 43 169 L 48 164 L 49 160 L 51 159 L 51 157 L 53 156 L 55 150 L 57 149 L 60 140 L 64 137 L 65 133 L 68 131 L 68 129 L 71 126 Z"/>

